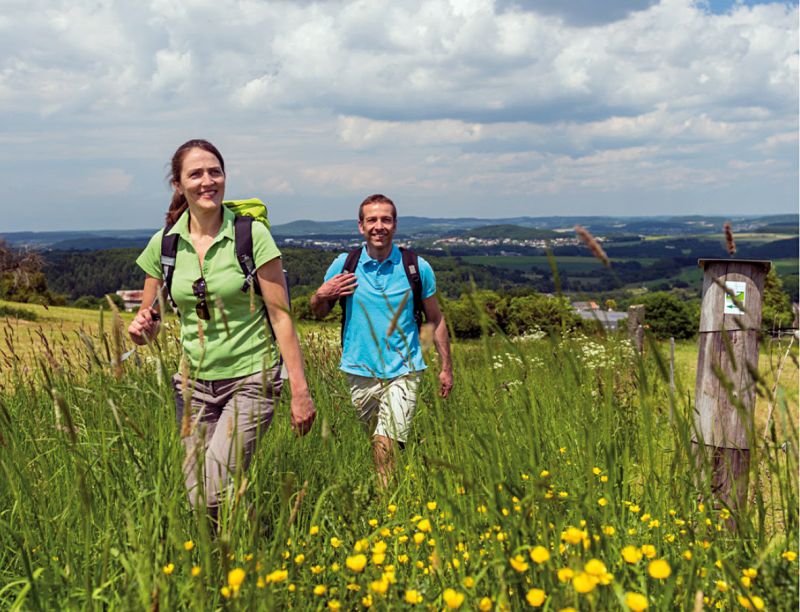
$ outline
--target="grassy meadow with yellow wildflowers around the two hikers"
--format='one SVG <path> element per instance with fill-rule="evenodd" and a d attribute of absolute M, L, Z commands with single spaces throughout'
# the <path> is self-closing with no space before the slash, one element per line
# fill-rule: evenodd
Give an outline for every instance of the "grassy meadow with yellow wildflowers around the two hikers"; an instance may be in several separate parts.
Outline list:
<path fill-rule="evenodd" d="M 304 325 L 317 423 L 295 437 L 284 394 L 214 533 L 182 481 L 174 321 L 120 363 L 112 313 L 30 308 L 0 319 L 3 609 L 798 608 L 796 343 L 762 345 L 739 513 L 692 456 L 695 343 L 672 390 L 655 341 L 456 342 L 382 489 L 338 327 Z"/>

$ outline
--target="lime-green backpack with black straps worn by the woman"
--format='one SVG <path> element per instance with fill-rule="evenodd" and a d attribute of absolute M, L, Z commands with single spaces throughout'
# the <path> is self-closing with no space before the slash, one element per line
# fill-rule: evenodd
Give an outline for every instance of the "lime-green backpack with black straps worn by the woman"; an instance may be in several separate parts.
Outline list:
<path fill-rule="evenodd" d="M 254 282 L 256 277 L 256 267 L 253 263 L 253 222 L 258 221 L 263 223 L 269 229 L 269 219 L 267 218 L 267 207 L 258 198 L 250 198 L 249 200 L 227 200 L 222 203 L 223 206 L 229 208 L 236 215 L 233 222 L 234 230 L 234 243 L 236 246 L 236 260 L 242 268 L 244 274 L 244 284 L 242 291 L 247 293 L 250 287 L 253 287 L 257 295 L 261 295 L 261 287 L 258 283 Z M 175 271 L 175 258 L 178 253 L 178 234 L 168 235 L 172 225 L 167 225 L 164 228 L 164 234 L 161 237 L 161 272 L 164 279 L 164 286 L 166 287 L 167 298 L 173 308 L 176 307 L 172 299 L 172 274 Z M 287 278 L 286 270 L 283 271 L 284 278 Z M 289 286 L 288 278 L 286 286 Z M 288 297 L 288 296 L 287 296 Z M 266 312 L 266 308 L 264 309 Z M 269 322 L 269 317 L 267 317 Z M 270 324 L 270 329 L 272 325 Z"/>

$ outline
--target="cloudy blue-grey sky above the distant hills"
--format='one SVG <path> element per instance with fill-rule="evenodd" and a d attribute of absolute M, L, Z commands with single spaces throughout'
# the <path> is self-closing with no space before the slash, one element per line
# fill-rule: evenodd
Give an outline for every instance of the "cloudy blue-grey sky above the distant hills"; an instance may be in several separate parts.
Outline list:
<path fill-rule="evenodd" d="M 798 4 L 2 0 L 0 232 L 155 228 L 175 149 L 273 223 L 798 211 Z"/>

